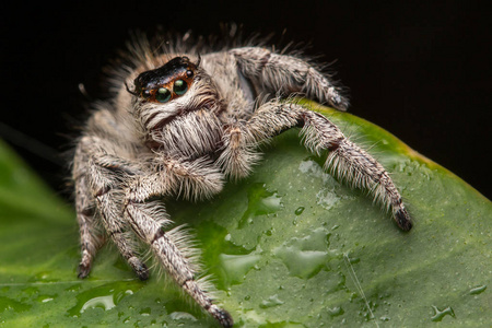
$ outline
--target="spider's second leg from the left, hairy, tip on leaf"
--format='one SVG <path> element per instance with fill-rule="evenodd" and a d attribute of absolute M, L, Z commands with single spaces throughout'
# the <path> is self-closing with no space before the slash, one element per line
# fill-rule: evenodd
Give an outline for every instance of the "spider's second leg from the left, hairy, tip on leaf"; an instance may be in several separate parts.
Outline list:
<path fill-rule="evenodd" d="M 147 266 L 139 259 L 136 246 L 132 243 L 130 235 L 127 233 L 128 226 L 122 219 L 121 212 L 121 181 L 116 175 L 116 171 L 130 172 L 131 166 L 126 167 L 122 164 L 125 160 L 110 161 L 112 156 L 101 152 L 98 144 L 102 140 L 96 137 L 84 137 L 79 143 L 78 152 L 87 154 L 89 161 L 84 172 L 86 173 L 86 185 L 91 190 L 93 203 L 96 204 L 97 214 L 101 218 L 102 225 L 106 230 L 109 237 L 118 247 L 121 255 L 131 266 L 139 279 L 145 280 L 149 278 L 149 270 Z M 75 163 L 78 157 L 75 155 Z M 77 181 L 77 178 L 75 178 Z M 82 195 L 83 196 L 83 195 Z M 77 203 L 83 202 L 84 198 L 77 195 Z M 83 211 L 82 211 L 83 213 Z M 91 254 L 91 253 L 90 253 Z M 82 262 L 84 265 L 84 249 L 82 250 Z M 91 258 L 90 258 L 91 259 Z M 81 267 L 82 278 L 89 274 L 89 269 Z M 89 267 L 90 268 L 90 267 Z"/>

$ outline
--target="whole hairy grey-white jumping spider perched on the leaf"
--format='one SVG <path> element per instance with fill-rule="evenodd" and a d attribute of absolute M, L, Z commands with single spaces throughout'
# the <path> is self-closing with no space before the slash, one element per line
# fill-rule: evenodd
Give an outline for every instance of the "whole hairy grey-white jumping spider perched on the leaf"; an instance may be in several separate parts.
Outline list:
<path fill-rule="evenodd" d="M 140 39 L 113 71 L 113 99 L 94 105 L 73 160 L 77 218 L 85 278 L 96 250 L 112 239 L 141 279 L 149 270 L 134 241 L 153 251 L 165 271 L 223 327 L 231 315 L 213 303 L 198 279 L 196 249 L 179 227 L 167 230 L 162 199 L 209 199 L 226 179 L 248 176 L 258 144 L 302 128 L 325 168 L 370 190 L 399 227 L 412 227 L 385 168 L 323 115 L 285 97 L 304 95 L 345 110 L 348 101 L 329 75 L 295 55 L 265 47 L 233 47 L 198 55 L 197 46 L 152 48 Z M 104 229 L 98 229 L 99 226 Z"/>

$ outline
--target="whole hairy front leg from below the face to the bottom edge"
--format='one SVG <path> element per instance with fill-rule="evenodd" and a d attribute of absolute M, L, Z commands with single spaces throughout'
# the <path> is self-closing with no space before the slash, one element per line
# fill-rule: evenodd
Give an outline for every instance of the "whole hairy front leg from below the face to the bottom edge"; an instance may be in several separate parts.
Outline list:
<path fill-rule="evenodd" d="M 232 327 L 231 315 L 213 304 L 207 291 L 207 281 L 196 277 L 199 272 L 196 249 L 189 247 L 187 237 L 179 227 L 164 230 L 171 221 L 166 218 L 162 202 L 154 200 L 176 189 L 202 189 L 200 194 L 206 196 L 219 192 L 222 188 L 222 174 L 218 168 L 203 165 L 204 163 L 208 161 L 166 161 L 159 172 L 137 177 L 126 191 L 124 215 L 136 234 L 151 247 L 174 281 L 223 327 Z M 163 184 L 169 176 L 174 176 L 169 184 L 174 180 L 179 186 Z M 189 187 L 186 187 L 186 184 L 189 184 Z"/>

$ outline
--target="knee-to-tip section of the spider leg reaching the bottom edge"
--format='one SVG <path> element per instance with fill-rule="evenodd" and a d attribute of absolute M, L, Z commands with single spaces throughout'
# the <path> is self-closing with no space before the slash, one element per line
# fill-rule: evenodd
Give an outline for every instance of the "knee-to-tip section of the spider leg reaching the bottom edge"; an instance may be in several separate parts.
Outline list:
<path fill-rule="evenodd" d="M 173 166 L 173 169 L 177 167 L 183 168 L 183 165 Z M 197 173 L 195 174 L 198 176 Z M 162 202 L 153 200 L 172 192 L 172 189 L 166 188 L 166 184 L 155 183 L 162 178 L 160 172 L 138 177 L 127 190 L 125 215 L 134 233 L 151 247 L 174 281 L 223 327 L 232 327 L 231 315 L 213 304 L 208 292 L 210 286 L 204 280 L 196 278 L 199 271 L 197 249 L 189 247 L 186 236 L 178 229 L 164 231 L 169 220 L 166 218 Z"/>

